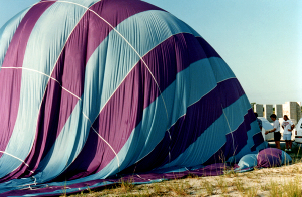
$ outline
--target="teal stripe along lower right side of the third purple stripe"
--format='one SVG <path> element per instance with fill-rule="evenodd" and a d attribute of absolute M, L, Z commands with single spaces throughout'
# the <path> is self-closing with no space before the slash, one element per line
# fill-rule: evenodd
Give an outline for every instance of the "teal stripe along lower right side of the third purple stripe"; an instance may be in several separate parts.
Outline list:
<path fill-rule="evenodd" d="M 178 73 L 176 80 L 163 92 L 163 97 L 167 101 L 167 110 L 170 113 L 169 128 L 186 113 L 188 106 L 200 100 L 216 86 L 211 73 L 207 59 L 199 60 Z M 184 91 L 178 91 L 179 88 L 190 89 L 186 91 L 190 93 L 184 95 Z M 157 124 L 154 124 L 155 122 Z M 162 98 L 158 97 L 144 110 L 142 122 L 132 131 L 125 146 L 118 153 L 120 168 L 132 165 L 150 153 L 163 139 L 166 131 L 165 107 Z M 117 172 L 117 158 L 115 157 L 103 170 L 90 177 L 106 178 Z"/>

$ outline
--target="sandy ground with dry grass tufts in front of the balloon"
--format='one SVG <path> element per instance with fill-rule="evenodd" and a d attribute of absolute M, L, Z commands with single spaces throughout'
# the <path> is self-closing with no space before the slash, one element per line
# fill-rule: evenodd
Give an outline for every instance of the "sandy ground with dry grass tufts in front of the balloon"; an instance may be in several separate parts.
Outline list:
<path fill-rule="evenodd" d="M 270 143 L 274 147 L 274 143 Z M 284 150 L 285 142 L 281 142 Z M 289 154 L 293 164 L 221 176 L 188 177 L 160 183 L 122 184 L 73 196 L 302 196 L 302 160 L 299 145 Z"/>

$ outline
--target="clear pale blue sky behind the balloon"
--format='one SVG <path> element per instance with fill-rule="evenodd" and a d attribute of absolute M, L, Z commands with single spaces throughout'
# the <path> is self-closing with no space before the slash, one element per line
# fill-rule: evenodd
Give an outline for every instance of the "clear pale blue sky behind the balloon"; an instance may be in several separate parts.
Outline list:
<path fill-rule="evenodd" d="M 0 26 L 35 2 L 0 0 Z M 250 102 L 302 101 L 302 1 L 146 2 L 195 29 L 228 63 Z"/>

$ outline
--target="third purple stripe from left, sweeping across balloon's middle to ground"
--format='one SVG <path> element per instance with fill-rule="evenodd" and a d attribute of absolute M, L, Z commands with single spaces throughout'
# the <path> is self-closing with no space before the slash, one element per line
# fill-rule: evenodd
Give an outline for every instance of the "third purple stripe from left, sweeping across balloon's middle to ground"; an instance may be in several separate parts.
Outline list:
<path fill-rule="evenodd" d="M 188 48 L 194 50 L 187 53 Z M 154 76 L 163 91 L 176 79 L 178 72 L 202 58 L 205 58 L 205 55 L 195 37 L 192 34 L 183 33 L 174 35 L 161 43 L 146 54 L 143 60 L 155 73 Z M 139 61 L 104 107 L 93 127 L 118 153 L 141 121 L 143 109 L 154 102 L 159 95 L 160 91 L 154 79 L 144 64 Z M 67 179 L 100 171 L 115 157 L 108 145 L 101 139 L 96 139 L 98 137 L 93 130 L 91 132 L 84 149 L 67 169 L 67 174 L 73 174 Z M 117 140 L 119 138 L 115 136 L 120 136 L 120 133 L 123 134 L 123 138 L 119 141 Z M 69 171 L 72 173 L 68 173 Z M 65 176 L 60 178 L 65 179 Z"/>

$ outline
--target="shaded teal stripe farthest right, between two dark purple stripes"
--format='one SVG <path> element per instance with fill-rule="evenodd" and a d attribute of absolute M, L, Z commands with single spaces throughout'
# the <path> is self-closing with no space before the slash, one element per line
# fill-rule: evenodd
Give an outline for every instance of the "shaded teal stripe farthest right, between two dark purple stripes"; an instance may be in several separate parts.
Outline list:
<path fill-rule="evenodd" d="M 247 114 L 248 109 L 251 108 L 250 105 L 246 105 L 247 101 L 246 95 L 243 95 L 235 103 L 223 109 L 232 128 L 232 132 L 242 124 L 244 115 Z M 238 119 L 238 117 L 241 117 L 242 120 Z M 230 133 L 228 122 L 226 122 L 224 114 L 222 114 L 207 130 L 205 130 L 205 132 L 201 134 L 201 136 L 177 159 L 158 169 L 164 169 L 170 166 L 194 167 L 204 163 L 226 143 L 225 135 L 221 135 L 222 131 L 225 131 L 225 135 Z M 249 141 L 253 141 L 251 136 L 248 137 Z M 248 152 L 251 152 L 251 150 Z M 192 155 L 198 155 L 198 157 L 196 156 L 194 160 L 191 160 L 189 158 L 191 158 Z"/>

